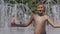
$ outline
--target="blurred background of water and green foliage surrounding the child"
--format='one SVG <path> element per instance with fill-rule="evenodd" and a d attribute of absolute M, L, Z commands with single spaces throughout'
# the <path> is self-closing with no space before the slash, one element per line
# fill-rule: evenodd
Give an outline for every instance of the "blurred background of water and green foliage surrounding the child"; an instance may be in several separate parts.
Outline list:
<path fill-rule="evenodd" d="M 36 11 L 36 4 L 42 2 L 45 14 L 60 24 L 60 0 L 0 0 L 0 34 L 33 34 L 34 23 L 28 27 L 10 27 L 14 15 L 20 24 Z M 46 25 L 47 34 L 60 34 L 60 28 Z"/>

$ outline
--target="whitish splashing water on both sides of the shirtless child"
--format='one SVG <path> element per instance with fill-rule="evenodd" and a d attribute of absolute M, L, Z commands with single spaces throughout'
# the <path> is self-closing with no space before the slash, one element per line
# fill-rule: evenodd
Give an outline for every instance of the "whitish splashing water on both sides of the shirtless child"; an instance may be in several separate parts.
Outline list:
<path fill-rule="evenodd" d="M 33 34 L 33 26 L 32 24 L 29 27 L 15 27 L 14 31 L 11 31 L 10 23 L 12 15 L 15 15 L 16 19 L 18 19 L 22 24 L 26 18 L 29 16 L 26 14 L 26 11 L 29 10 L 28 5 L 24 5 L 20 7 L 20 4 L 6 4 L 3 0 L 0 0 L 0 33 L 1 34 Z M 20 7 L 20 8 L 19 8 Z M 48 8 L 49 5 L 48 5 Z M 26 10 L 25 10 L 26 9 Z M 60 22 L 60 10 L 59 5 L 52 6 L 52 15 L 54 22 Z M 48 13 L 50 14 L 50 9 L 48 9 Z M 51 16 L 52 17 L 52 16 Z M 59 34 L 60 30 L 52 28 L 51 26 L 47 27 L 47 34 Z"/>

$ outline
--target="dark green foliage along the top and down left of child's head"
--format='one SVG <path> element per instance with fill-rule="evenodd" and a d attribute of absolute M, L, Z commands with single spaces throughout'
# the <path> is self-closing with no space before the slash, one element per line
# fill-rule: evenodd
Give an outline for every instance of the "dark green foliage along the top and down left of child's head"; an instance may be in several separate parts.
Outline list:
<path fill-rule="evenodd" d="M 11 4 L 15 4 L 15 3 L 26 4 L 26 3 L 28 3 L 28 6 L 29 6 L 30 9 L 27 12 L 28 12 L 28 14 L 32 14 L 32 13 L 35 13 L 35 11 L 36 11 L 36 4 L 39 2 L 39 0 L 14 0 L 14 1 L 10 0 L 9 2 Z"/>

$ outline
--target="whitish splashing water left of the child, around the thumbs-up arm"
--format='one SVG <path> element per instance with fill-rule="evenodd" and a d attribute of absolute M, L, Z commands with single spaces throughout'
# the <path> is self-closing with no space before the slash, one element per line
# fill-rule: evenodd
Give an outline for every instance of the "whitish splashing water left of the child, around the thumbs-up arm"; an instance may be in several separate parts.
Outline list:
<path fill-rule="evenodd" d="M 11 31 L 10 23 L 12 15 L 15 15 L 16 19 L 24 23 L 27 17 L 29 17 L 25 11 L 29 10 L 28 5 L 22 4 L 22 8 L 19 8 L 20 4 L 6 4 L 3 0 L 0 0 L 0 33 L 1 34 L 32 34 L 30 27 L 21 28 L 15 27 L 15 31 Z M 29 31 L 28 31 L 29 30 Z"/>

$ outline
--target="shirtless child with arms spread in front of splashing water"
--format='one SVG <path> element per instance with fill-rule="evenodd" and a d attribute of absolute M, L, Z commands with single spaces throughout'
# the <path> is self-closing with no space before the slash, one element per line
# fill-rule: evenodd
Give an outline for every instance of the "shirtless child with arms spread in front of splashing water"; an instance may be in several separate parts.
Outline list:
<path fill-rule="evenodd" d="M 25 24 L 15 24 L 18 27 L 27 27 L 29 26 L 32 21 L 34 21 L 35 24 L 35 29 L 34 29 L 34 34 L 46 34 L 45 30 L 45 23 L 48 21 L 49 24 L 51 24 L 54 28 L 60 28 L 60 25 L 55 24 L 47 15 L 44 15 L 44 5 L 43 4 L 38 4 L 37 5 L 37 14 L 33 14 L 30 19 L 26 21 Z"/>

